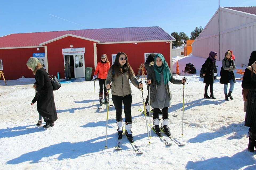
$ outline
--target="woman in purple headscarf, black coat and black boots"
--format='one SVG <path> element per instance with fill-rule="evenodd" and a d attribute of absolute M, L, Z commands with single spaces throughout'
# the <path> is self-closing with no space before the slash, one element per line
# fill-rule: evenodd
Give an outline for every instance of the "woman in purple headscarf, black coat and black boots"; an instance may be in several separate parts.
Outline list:
<path fill-rule="evenodd" d="M 217 53 L 211 51 L 209 53 L 209 57 L 205 60 L 205 63 L 202 65 L 203 69 L 203 82 L 205 83 L 205 95 L 204 98 L 207 99 L 216 99 L 213 95 L 213 81 L 214 81 L 214 68 L 215 66 L 215 60 L 217 58 Z M 210 96 L 207 94 L 208 87 L 210 85 Z"/>

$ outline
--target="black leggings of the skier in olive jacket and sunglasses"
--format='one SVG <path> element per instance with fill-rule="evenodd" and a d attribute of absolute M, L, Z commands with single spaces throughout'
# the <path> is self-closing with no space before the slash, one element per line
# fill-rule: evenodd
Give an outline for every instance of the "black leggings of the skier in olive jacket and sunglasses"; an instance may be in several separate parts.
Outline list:
<path fill-rule="evenodd" d="M 112 101 L 115 106 L 115 115 L 117 121 L 122 121 L 123 109 L 125 110 L 125 122 L 131 122 L 131 94 L 126 96 L 112 95 Z"/>

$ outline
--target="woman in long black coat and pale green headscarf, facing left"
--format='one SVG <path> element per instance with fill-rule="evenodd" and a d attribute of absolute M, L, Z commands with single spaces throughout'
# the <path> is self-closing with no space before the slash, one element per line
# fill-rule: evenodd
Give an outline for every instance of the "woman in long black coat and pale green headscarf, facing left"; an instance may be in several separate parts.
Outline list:
<path fill-rule="evenodd" d="M 50 82 L 48 73 L 43 69 L 39 60 L 35 57 L 30 57 L 26 63 L 27 67 L 33 71 L 35 75 L 35 92 L 37 93 L 37 111 L 43 116 L 46 124 L 44 128 L 54 126 L 53 122 L 57 120 L 57 112 L 53 97 L 53 86 Z"/>

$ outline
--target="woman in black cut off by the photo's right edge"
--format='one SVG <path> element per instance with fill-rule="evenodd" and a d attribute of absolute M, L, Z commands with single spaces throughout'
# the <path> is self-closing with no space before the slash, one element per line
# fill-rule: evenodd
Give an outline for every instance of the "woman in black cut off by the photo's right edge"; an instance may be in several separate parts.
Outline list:
<path fill-rule="evenodd" d="M 245 126 L 249 128 L 248 150 L 253 152 L 256 148 L 256 61 L 245 69 L 242 88 L 249 89 L 245 114 Z"/>

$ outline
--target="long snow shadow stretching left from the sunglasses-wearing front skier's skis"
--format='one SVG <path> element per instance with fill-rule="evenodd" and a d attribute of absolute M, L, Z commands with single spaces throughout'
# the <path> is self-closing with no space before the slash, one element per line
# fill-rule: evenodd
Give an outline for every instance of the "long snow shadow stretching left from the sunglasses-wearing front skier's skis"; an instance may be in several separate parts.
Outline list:
<path fill-rule="evenodd" d="M 134 140 L 145 138 L 147 134 L 139 134 L 134 136 Z M 111 148 L 111 152 L 115 147 L 117 142 L 117 134 L 107 135 L 107 147 Z M 30 161 L 30 163 L 38 163 L 42 158 L 49 158 L 56 154 L 59 154 L 57 160 L 63 159 L 76 159 L 78 157 L 88 156 L 85 154 L 100 152 L 97 154 L 102 154 L 104 152 L 109 152 L 109 149 L 105 150 L 105 141 L 106 136 L 100 136 L 97 138 L 90 139 L 88 141 L 71 143 L 71 142 L 61 142 L 55 145 L 50 145 L 48 147 L 41 148 L 37 151 L 28 152 L 22 154 L 21 156 L 11 159 L 6 162 L 6 164 L 19 164 L 22 162 Z M 129 143 L 128 139 L 123 135 L 123 145 L 122 150 L 133 150 L 131 145 L 127 145 Z M 113 149 L 112 149 L 113 148 Z"/>

